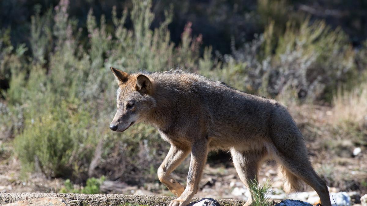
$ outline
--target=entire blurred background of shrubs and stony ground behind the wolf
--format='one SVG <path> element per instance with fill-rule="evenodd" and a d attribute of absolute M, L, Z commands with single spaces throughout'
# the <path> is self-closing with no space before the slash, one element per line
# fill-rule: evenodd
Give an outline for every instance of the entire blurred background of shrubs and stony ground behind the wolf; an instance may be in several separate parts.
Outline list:
<path fill-rule="evenodd" d="M 180 68 L 287 105 L 330 191 L 359 203 L 366 55 L 365 0 L 1 0 L 0 192 L 172 195 L 156 175 L 169 148 L 158 132 L 108 128 L 109 67 Z M 183 184 L 188 166 L 174 172 Z M 266 162 L 260 180 L 286 199 L 276 171 Z M 196 197 L 247 195 L 229 154 L 211 153 Z"/>

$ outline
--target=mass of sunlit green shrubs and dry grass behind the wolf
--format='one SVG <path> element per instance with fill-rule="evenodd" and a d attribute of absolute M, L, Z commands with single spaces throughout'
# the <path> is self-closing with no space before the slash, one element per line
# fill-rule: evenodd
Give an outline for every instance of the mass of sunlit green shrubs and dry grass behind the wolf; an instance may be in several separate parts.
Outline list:
<path fill-rule="evenodd" d="M 14 44 L 14 31 L 0 30 L 1 139 L 12 142 L 25 174 L 68 179 L 64 192 L 97 193 L 103 180 L 93 176 L 139 185 L 156 180 L 168 145 L 142 124 L 110 132 L 117 85 L 109 67 L 178 67 L 290 107 L 331 105 L 335 115 L 326 125 L 301 125 L 308 140 L 327 140 L 313 148 L 341 156 L 346 137 L 348 147 L 366 146 L 367 85 L 361 82 L 367 80 L 367 41 L 356 49 L 343 29 L 294 16 L 286 1 L 271 2 L 257 2 L 262 29 L 253 29 L 259 34 L 251 41 L 232 40 L 230 54 L 220 54 L 218 45 L 203 47 L 205 35 L 195 35 L 192 22 L 185 22 L 179 41 L 172 39 L 177 3 L 164 7 L 164 18 L 153 13 L 151 0 L 132 0 L 122 11 L 113 7 L 108 18 L 91 9 L 84 28 L 69 15 L 68 0 L 48 10 L 36 5 L 29 41 L 14 37 Z M 320 171 L 338 181 L 330 169 Z M 86 186 L 77 190 L 72 182 Z M 251 190 L 259 192 L 260 205 L 266 201 L 267 187 Z"/>

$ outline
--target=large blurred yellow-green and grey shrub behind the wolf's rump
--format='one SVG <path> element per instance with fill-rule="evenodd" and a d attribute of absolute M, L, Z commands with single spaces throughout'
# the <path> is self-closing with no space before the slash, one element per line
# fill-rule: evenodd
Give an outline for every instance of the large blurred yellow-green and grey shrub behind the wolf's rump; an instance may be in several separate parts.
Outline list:
<path fill-rule="evenodd" d="M 355 53 L 340 29 L 309 18 L 300 25 L 289 20 L 274 42 L 273 28 L 271 22 L 264 34 L 239 49 L 233 43 L 232 55 L 206 73 L 250 93 L 273 98 L 291 93 L 287 98 L 328 102 L 337 85 L 356 77 Z"/>

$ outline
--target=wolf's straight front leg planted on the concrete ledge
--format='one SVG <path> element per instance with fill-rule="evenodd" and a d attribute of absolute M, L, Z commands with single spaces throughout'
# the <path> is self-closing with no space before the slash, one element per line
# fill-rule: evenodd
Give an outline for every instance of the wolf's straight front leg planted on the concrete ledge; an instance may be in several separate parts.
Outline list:
<path fill-rule="evenodd" d="M 171 201 L 170 206 L 186 206 L 190 203 L 190 200 L 196 194 L 197 189 L 199 188 L 199 181 L 207 160 L 207 156 L 207 139 L 193 142 L 186 189 L 183 191 L 181 196 L 179 196 L 179 198 Z"/>

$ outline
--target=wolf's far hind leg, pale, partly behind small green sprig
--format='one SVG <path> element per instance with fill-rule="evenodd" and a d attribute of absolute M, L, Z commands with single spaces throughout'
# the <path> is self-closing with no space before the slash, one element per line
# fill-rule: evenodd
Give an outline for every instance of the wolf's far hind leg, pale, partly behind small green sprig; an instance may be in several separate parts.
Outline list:
<path fill-rule="evenodd" d="M 233 164 L 240 176 L 241 181 L 246 185 L 254 183 L 257 184 L 257 174 L 260 163 L 263 161 L 266 153 L 264 151 L 259 152 L 241 152 L 235 149 L 231 150 Z M 248 197 L 244 206 L 250 206 L 252 204 L 251 195 Z"/>

